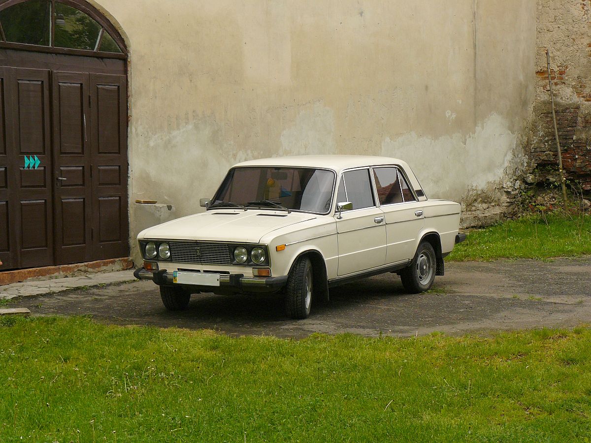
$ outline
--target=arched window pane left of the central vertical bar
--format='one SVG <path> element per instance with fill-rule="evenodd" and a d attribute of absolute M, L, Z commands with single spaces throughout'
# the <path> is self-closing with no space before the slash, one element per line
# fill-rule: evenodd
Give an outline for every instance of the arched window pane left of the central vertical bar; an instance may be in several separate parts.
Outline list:
<path fill-rule="evenodd" d="M 0 11 L 6 41 L 49 46 L 51 3 L 31 0 Z"/>

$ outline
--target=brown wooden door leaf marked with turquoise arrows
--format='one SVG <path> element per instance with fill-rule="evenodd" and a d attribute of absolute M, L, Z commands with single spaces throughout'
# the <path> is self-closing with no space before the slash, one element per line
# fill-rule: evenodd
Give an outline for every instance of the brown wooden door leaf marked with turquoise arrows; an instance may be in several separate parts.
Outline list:
<path fill-rule="evenodd" d="M 50 71 L 4 67 L 3 83 L 9 266 L 52 265 Z M 27 167 L 31 157 L 37 168 Z"/>

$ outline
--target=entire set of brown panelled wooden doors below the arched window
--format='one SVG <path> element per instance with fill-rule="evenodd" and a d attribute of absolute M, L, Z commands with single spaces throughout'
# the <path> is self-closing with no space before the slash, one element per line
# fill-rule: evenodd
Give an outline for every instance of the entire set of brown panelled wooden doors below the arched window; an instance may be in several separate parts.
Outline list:
<path fill-rule="evenodd" d="M 127 256 L 126 77 L 37 58 L 0 66 L 0 269 Z"/>

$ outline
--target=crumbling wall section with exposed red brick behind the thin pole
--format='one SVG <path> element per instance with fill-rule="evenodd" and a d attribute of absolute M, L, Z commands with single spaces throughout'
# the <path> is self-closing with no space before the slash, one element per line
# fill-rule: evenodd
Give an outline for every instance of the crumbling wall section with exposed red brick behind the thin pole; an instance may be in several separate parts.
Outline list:
<path fill-rule="evenodd" d="M 534 181 L 557 181 L 546 48 L 567 180 L 591 191 L 591 0 L 538 0 L 536 98 L 528 153 Z"/>

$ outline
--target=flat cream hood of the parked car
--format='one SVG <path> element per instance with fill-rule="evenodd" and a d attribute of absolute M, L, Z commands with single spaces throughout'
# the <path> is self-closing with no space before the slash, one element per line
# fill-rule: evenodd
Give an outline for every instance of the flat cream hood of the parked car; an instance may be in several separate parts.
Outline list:
<path fill-rule="evenodd" d="M 314 214 L 265 210 L 210 210 L 158 224 L 139 234 L 144 239 L 216 240 L 258 243 L 275 229 L 315 219 Z"/>

